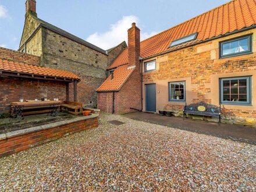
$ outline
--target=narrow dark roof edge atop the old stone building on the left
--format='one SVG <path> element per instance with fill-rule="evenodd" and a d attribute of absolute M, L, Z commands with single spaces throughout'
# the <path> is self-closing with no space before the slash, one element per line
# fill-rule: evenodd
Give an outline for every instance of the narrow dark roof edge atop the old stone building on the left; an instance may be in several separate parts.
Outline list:
<path fill-rule="evenodd" d="M 90 42 L 84 41 L 83 39 L 81 39 L 79 37 L 76 37 L 75 35 L 73 35 L 71 33 L 68 33 L 65 30 L 62 30 L 59 27 L 56 27 L 56 26 L 54 26 L 54 25 L 52 25 L 50 23 L 47 23 L 44 20 L 39 19 L 38 17 L 35 17 L 33 15 L 31 15 L 31 16 L 34 17 L 34 19 L 37 19 L 40 22 L 42 27 L 44 27 L 46 29 L 49 29 L 51 31 L 54 31 L 55 33 L 61 34 L 64 37 L 70 38 L 71 40 L 79 42 L 80 44 L 85 45 L 86 47 L 92 48 L 95 51 L 98 51 L 98 52 L 101 52 L 102 54 L 107 55 L 107 53 L 106 53 L 106 51 L 104 49 L 101 49 L 101 48 L 97 47 L 96 45 L 91 44 Z"/>

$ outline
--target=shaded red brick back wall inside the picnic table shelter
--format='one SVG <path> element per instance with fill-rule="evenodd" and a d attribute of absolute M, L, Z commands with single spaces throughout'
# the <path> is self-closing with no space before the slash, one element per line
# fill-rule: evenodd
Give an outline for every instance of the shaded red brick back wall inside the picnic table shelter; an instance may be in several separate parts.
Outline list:
<path fill-rule="evenodd" d="M 0 113 L 10 109 L 10 102 L 40 99 L 45 95 L 47 99 L 66 99 L 66 83 L 59 81 L 45 81 L 32 79 L 17 79 L 15 77 L 0 77 Z"/>

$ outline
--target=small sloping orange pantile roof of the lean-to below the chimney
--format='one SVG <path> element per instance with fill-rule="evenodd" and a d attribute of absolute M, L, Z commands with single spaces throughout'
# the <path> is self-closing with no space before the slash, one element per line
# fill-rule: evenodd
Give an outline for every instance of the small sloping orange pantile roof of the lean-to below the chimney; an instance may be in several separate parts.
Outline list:
<path fill-rule="evenodd" d="M 133 73 L 134 69 L 134 67 L 129 67 L 129 65 L 119 66 L 113 72 L 113 79 L 111 79 L 111 76 L 109 76 L 108 79 L 101 84 L 97 91 L 119 91 L 131 73 Z"/>

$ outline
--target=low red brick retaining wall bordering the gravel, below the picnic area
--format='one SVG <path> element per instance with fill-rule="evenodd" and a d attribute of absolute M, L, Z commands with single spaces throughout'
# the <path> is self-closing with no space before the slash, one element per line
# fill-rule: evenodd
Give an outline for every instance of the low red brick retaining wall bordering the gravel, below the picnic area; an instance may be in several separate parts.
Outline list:
<path fill-rule="evenodd" d="M 23 134 L 21 136 L 6 138 L 0 140 L 0 157 L 15 154 L 16 152 L 26 150 L 27 148 L 97 126 L 98 118 L 86 119 L 63 126 Z"/>

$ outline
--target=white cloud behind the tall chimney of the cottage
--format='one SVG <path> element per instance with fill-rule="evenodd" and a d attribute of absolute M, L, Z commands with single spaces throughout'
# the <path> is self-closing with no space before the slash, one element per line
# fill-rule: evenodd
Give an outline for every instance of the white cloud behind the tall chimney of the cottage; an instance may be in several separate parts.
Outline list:
<path fill-rule="evenodd" d="M 105 31 L 104 33 L 96 32 L 94 34 L 91 34 L 87 38 L 87 41 L 91 42 L 94 45 L 97 45 L 102 49 L 109 49 L 115 47 L 124 40 L 127 42 L 127 30 L 131 27 L 131 23 L 136 23 L 136 26 L 139 27 L 138 17 L 134 15 L 123 16 L 121 20 L 119 20 L 115 24 L 111 24 L 111 27 L 108 31 Z M 145 38 L 151 37 L 154 34 L 157 33 L 154 31 L 152 31 L 151 33 L 141 33 L 140 37 L 141 40 L 144 40 Z"/>

